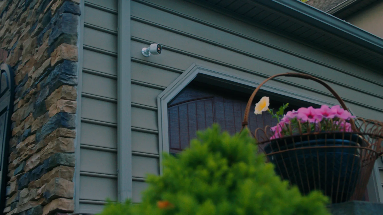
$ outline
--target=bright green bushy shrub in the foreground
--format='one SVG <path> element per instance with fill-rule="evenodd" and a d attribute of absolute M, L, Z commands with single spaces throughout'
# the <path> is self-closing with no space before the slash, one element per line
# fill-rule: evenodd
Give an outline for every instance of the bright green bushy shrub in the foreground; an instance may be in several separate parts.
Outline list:
<path fill-rule="evenodd" d="M 327 197 L 302 196 L 256 154 L 248 132 L 218 125 L 198 132 L 178 156 L 164 155 L 163 176 L 149 176 L 141 204 L 109 204 L 101 215 L 327 215 Z"/>

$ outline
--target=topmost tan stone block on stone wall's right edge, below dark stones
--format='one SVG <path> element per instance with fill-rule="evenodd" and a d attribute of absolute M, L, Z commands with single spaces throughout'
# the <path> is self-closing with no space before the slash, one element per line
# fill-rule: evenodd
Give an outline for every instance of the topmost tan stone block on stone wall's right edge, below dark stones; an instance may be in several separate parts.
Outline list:
<path fill-rule="evenodd" d="M 79 60 L 79 54 L 77 46 L 70 44 L 61 44 L 51 54 L 51 65 L 54 66 L 62 60 L 70 60 L 77 62 Z"/>

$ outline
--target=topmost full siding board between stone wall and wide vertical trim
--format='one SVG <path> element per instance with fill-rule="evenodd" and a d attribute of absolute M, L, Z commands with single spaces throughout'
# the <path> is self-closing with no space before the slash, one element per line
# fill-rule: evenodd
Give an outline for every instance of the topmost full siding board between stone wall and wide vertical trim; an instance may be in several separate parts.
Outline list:
<path fill-rule="evenodd" d="M 84 21 L 101 28 L 117 31 L 117 15 L 96 8 L 85 6 Z"/>

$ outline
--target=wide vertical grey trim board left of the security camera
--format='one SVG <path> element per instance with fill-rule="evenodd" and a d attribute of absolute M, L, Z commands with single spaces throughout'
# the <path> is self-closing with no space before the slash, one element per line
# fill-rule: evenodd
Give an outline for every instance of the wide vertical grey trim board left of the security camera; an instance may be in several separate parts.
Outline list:
<path fill-rule="evenodd" d="M 132 198 L 130 0 L 118 0 L 117 159 L 118 201 Z"/>

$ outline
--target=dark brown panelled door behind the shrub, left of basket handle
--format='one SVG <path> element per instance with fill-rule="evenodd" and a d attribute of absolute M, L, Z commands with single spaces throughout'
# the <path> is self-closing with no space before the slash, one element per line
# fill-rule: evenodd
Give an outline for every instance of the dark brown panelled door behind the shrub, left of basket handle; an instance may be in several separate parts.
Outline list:
<path fill-rule="evenodd" d="M 239 97 L 241 95 L 242 97 Z M 187 148 L 198 130 L 205 130 L 218 123 L 222 130 L 235 134 L 241 131 L 247 96 L 219 88 L 201 85 L 187 86 L 168 104 L 169 150 L 177 153 Z M 250 110 L 254 110 L 255 104 Z M 249 129 L 276 125 L 268 112 L 249 116 Z"/>

